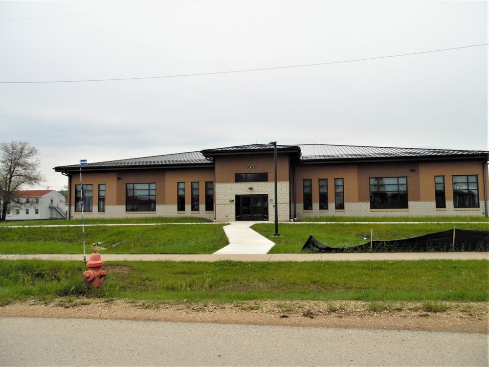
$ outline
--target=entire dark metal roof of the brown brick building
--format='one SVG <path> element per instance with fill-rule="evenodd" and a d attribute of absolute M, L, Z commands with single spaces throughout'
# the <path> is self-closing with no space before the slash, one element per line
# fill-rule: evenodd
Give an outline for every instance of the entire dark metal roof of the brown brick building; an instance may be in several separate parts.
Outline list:
<path fill-rule="evenodd" d="M 487 159 L 489 152 L 480 150 L 425 149 L 425 148 L 392 148 L 356 145 L 331 144 L 298 144 L 277 145 L 281 153 L 296 153 L 304 163 L 315 161 L 369 161 L 401 159 L 434 159 L 434 158 L 475 158 Z M 162 166 L 213 166 L 209 157 L 216 155 L 272 152 L 273 145 L 250 144 L 232 147 L 205 149 L 196 152 L 166 154 L 153 157 L 132 158 L 117 161 L 88 163 L 84 169 L 117 169 L 144 168 Z M 74 171 L 78 164 L 54 167 L 57 172 Z"/>

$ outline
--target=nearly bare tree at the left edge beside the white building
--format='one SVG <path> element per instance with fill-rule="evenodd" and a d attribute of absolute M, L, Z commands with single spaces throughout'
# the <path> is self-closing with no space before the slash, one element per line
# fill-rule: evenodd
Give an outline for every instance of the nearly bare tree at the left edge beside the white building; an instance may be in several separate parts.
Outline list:
<path fill-rule="evenodd" d="M 0 221 L 4 221 L 11 203 L 18 203 L 17 191 L 39 184 L 44 176 L 38 171 L 39 151 L 27 141 L 0 143 Z"/>

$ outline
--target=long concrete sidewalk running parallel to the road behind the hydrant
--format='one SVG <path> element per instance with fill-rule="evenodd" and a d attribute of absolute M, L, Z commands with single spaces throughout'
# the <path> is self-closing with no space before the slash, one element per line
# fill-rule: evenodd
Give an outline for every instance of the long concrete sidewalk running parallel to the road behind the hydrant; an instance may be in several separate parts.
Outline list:
<path fill-rule="evenodd" d="M 90 253 L 87 253 L 87 260 Z M 358 261 L 358 260 L 489 260 L 489 252 L 375 252 L 375 253 L 275 253 L 275 254 L 210 254 L 210 255 L 111 255 L 101 254 L 108 261 Z M 83 261 L 83 254 L 0 255 L 0 260 L 61 260 Z"/>

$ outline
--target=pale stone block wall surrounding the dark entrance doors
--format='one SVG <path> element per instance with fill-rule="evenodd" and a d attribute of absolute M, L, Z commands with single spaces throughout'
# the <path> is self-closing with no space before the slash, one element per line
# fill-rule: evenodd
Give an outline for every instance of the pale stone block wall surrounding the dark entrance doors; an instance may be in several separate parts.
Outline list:
<path fill-rule="evenodd" d="M 248 187 L 253 187 L 250 190 Z M 275 221 L 275 184 L 273 182 L 249 182 L 215 184 L 216 221 L 228 222 L 236 219 L 235 195 L 268 195 L 268 221 Z M 289 182 L 277 183 L 278 220 L 289 221 Z M 232 200 L 232 202 L 230 202 Z M 270 202 L 272 200 L 272 202 Z"/>

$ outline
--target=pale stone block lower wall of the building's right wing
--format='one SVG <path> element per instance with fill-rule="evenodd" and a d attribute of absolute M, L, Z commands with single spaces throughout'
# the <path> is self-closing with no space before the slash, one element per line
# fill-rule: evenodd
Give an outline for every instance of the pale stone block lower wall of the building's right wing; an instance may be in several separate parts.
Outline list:
<path fill-rule="evenodd" d="M 329 210 L 319 210 L 319 204 L 313 203 L 312 210 L 304 211 L 303 203 L 297 203 L 297 219 L 311 217 L 346 216 L 346 217 L 437 217 L 437 216 L 484 216 L 484 202 L 480 208 L 454 209 L 453 202 L 446 202 L 446 209 L 435 208 L 434 201 L 409 202 L 408 209 L 370 209 L 370 203 L 345 203 L 344 210 L 335 210 L 334 203 L 329 203 Z M 293 212 L 293 210 L 292 210 Z"/>

